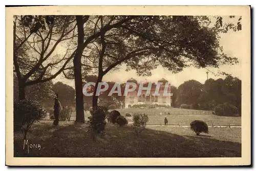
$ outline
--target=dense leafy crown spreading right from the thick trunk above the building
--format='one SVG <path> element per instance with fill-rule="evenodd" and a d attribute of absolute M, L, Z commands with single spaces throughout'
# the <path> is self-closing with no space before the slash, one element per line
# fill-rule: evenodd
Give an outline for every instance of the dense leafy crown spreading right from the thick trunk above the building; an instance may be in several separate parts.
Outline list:
<path fill-rule="evenodd" d="M 188 66 L 217 68 L 226 63 L 238 63 L 237 58 L 227 57 L 223 53 L 219 43 L 221 30 L 210 25 L 207 16 L 89 18 L 89 22 L 94 20 L 95 25 L 90 28 L 93 33 L 101 32 L 93 43 L 83 47 L 90 53 L 82 55 L 86 58 L 81 63 L 84 71 L 88 67 L 97 68 L 98 82 L 121 64 L 126 64 L 126 70 L 135 69 L 139 76 L 150 76 L 151 70 L 159 65 L 177 73 Z M 222 26 L 222 17 L 217 20 Z M 93 98 L 96 103 L 97 96 Z"/>

